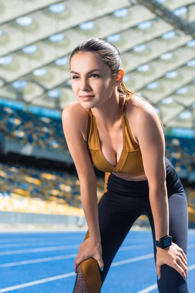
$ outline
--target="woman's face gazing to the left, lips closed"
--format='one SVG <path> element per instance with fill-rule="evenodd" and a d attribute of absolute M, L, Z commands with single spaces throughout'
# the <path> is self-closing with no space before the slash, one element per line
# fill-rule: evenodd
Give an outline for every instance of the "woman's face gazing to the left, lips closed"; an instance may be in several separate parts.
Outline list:
<path fill-rule="evenodd" d="M 115 79 L 111 69 L 92 53 L 77 53 L 70 63 L 72 89 L 78 102 L 86 109 L 97 107 L 112 95 Z"/>

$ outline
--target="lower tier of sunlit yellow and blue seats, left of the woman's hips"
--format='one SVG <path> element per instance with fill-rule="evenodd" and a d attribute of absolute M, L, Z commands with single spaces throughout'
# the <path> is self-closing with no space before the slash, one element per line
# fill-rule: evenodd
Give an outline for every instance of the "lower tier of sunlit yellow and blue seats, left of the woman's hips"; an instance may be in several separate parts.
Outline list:
<path fill-rule="evenodd" d="M 78 177 L 55 170 L 0 164 L 0 210 L 83 215 Z M 104 181 L 98 179 L 98 197 Z"/>

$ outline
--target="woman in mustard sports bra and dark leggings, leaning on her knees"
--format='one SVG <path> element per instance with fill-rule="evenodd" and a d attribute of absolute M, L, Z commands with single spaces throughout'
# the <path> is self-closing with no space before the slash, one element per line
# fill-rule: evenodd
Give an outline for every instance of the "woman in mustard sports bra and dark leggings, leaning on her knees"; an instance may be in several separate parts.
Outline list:
<path fill-rule="evenodd" d="M 62 124 L 89 228 L 75 259 L 74 293 L 100 292 L 119 247 L 142 214 L 152 228 L 159 292 L 188 293 L 186 195 L 165 158 L 156 110 L 125 87 L 121 67 L 117 48 L 101 39 L 80 43 L 70 58 L 77 101 L 63 109 Z M 105 172 L 99 202 L 93 165 Z"/>

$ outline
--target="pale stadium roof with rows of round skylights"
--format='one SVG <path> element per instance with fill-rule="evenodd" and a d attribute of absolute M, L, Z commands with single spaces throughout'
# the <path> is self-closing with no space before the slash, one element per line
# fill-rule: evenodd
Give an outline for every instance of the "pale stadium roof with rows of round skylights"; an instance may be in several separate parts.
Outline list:
<path fill-rule="evenodd" d="M 194 24 L 195 0 L 156 2 Z M 76 99 L 70 54 L 90 38 L 117 46 L 124 83 L 166 126 L 195 126 L 195 40 L 137 0 L 0 0 L 0 97 L 62 109 Z"/>

